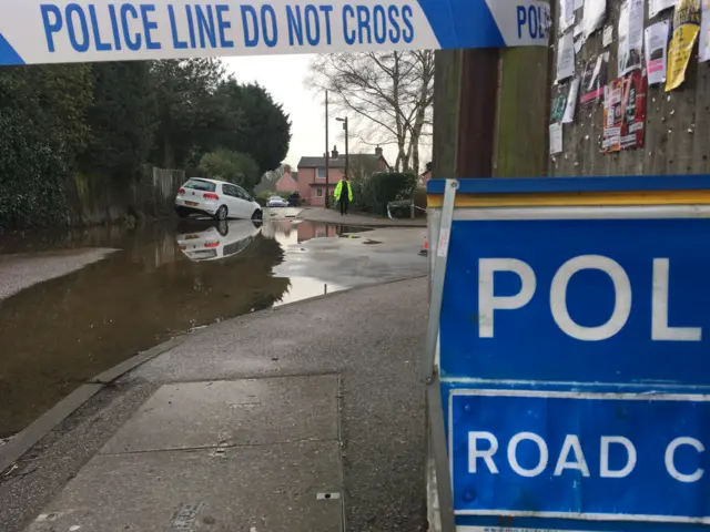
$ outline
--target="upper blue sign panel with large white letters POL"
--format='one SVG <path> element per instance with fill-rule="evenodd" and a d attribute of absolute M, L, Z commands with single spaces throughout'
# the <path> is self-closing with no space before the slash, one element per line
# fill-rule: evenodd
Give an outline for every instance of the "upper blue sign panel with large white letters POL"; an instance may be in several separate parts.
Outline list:
<path fill-rule="evenodd" d="M 455 221 L 442 372 L 707 383 L 709 268 L 703 218 Z"/>

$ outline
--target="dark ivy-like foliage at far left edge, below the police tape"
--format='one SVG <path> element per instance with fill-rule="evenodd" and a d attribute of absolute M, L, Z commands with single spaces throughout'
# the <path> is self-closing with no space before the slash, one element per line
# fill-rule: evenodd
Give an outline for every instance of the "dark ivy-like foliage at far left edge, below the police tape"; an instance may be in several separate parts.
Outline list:
<path fill-rule="evenodd" d="M 64 184 L 89 135 L 90 72 L 0 70 L 0 227 L 65 222 Z"/>

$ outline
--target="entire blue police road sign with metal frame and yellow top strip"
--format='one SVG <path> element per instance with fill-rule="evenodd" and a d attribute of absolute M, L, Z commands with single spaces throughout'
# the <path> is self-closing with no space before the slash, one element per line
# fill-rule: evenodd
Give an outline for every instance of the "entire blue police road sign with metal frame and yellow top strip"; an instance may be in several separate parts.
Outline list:
<path fill-rule="evenodd" d="M 462 180 L 448 214 L 430 202 L 457 532 L 710 525 L 703 177 Z"/>

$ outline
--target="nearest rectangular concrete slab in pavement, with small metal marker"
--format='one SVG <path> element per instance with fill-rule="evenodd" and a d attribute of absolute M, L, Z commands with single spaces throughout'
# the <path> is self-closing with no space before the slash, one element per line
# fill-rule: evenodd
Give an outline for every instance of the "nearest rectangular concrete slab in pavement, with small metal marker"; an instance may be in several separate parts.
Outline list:
<path fill-rule="evenodd" d="M 26 531 L 341 532 L 339 446 L 98 454 Z"/>

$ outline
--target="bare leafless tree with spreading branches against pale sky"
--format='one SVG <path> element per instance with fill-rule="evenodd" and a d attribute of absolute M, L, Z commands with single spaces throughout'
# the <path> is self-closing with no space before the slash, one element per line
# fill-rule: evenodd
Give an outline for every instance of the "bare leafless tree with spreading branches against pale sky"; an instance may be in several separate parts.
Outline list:
<path fill-rule="evenodd" d="M 336 111 L 361 117 L 352 134 L 363 143 L 396 144 L 395 170 L 418 171 L 419 143 L 432 131 L 433 51 L 320 55 L 307 83 L 328 90 Z"/>

